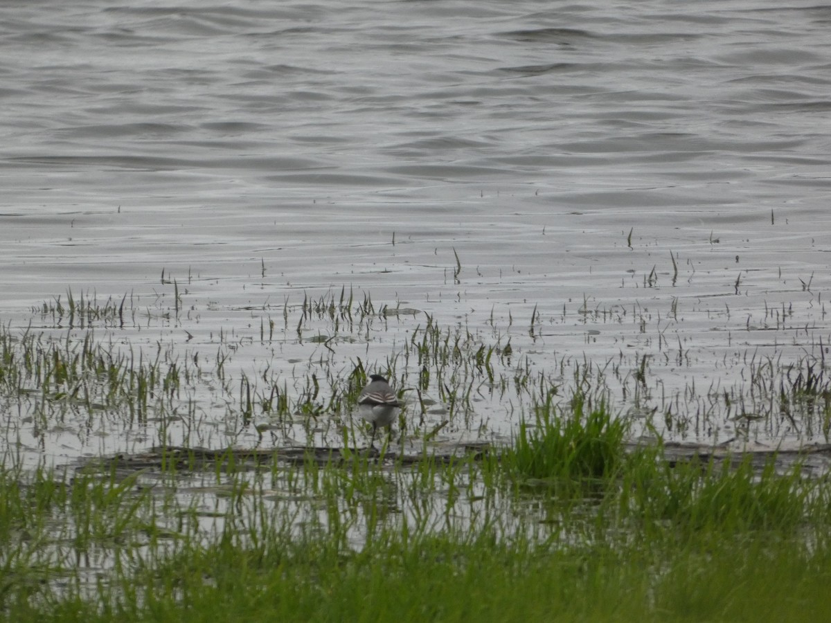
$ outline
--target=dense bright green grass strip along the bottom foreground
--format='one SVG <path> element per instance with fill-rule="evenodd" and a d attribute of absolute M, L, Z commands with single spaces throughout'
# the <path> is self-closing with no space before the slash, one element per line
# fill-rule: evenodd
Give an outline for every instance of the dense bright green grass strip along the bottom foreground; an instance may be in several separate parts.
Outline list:
<path fill-rule="evenodd" d="M 660 554 L 660 555 L 659 555 Z M 220 540 L 116 574 L 100 601 L 12 603 L 10 621 L 825 621 L 831 550 L 764 538 L 706 552 L 543 546 L 459 532 Z"/>

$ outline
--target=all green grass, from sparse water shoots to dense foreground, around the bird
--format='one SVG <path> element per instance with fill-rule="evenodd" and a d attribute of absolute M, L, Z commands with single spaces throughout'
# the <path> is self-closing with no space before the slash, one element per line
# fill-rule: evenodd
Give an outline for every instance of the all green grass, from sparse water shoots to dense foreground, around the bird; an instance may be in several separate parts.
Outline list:
<path fill-rule="evenodd" d="M 583 361 L 567 383 L 564 363 L 534 370 L 493 321 L 484 336 L 421 316 L 386 361 L 367 362 L 355 354 L 366 346 L 349 350 L 354 336 L 419 312 L 345 290 L 260 310 L 261 345 L 286 358 L 279 349 L 314 349 L 291 376 L 271 358 L 253 370 L 238 361 L 249 338 L 234 334 L 215 336 L 210 357 L 96 336 L 137 316 L 193 312 L 180 297 L 166 314 L 138 312 L 134 297 L 100 307 L 67 295 L 38 308 L 47 330 L 0 327 L 2 620 L 831 617 L 828 475 L 807 468 L 807 455 L 673 454 L 656 425 L 696 424 L 637 409 L 650 400 L 647 356 L 630 370 Z M 532 340 L 542 325 L 535 309 Z M 350 417 L 376 369 L 408 401 L 401 438 L 380 457 L 363 450 L 366 430 Z M 725 390 L 707 399 L 748 430 L 789 422 L 828 433 L 821 361 L 755 361 L 752 371 L 747 400 Z M 612 407 L 607 375 L 634 415 Z M 687 396 L 702 404 L 695 387 Z M 476 417 L 486 400 L 509 405 L 513 439 L 442 437 L 486 436 Z M 636 443 L 636 426 L 651 438 Z M 27 439 L 66 428 L 150 439 L 68 467 L 27 464 Z M 288 443 L 300 434 L 305 445 Z"/>

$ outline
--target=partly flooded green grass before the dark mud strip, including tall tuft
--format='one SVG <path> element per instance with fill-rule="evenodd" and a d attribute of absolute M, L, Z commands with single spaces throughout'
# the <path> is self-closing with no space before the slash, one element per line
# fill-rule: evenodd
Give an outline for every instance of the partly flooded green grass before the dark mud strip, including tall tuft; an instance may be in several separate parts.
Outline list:
<path fill-rule="evenodd" d="M 3 469 L 0 613 L 7 621 L 827 620 L 826 478 L 804 478 L 798 467 L 777 473 L 774 463 L 760 470 L 750 459 L 672 462 L 654 446 L 627 453 L 615 419 L 575 406 L 564 421 L 539 410 L 534 433 L 526 429 L 501 460 L 425 455 L 403 468 L 355 454 L 345 464 L 275 462 L 254 473 L 228 464 L 206 474 L 210 496 L 177 485 L 184 474 L 175 472 L 153 487 L 115 469 L 72 478 Z M 568 449 L 559 462 L 525 460 Z M 515 486 L 545 474 L 588 479 L 593 501 L 568 491 L 560 505 L 563 488 Z"/>

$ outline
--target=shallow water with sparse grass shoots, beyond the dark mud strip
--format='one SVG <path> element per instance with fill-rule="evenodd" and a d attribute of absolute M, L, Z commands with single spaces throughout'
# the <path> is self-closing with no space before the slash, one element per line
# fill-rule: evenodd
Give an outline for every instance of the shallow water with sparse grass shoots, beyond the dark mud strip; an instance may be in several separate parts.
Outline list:
<path fill-rule="evenodd" d="M 489 280 L 494 268 L 468 266 L 462 245 L 403 279 L 423 260 L 414 243 L 390 241 L 374 251 L 389 262 L 359 278 L 396 278 L 396 291 L 292 287 L 273 282 L 264 260 L 236 282 L 162 267 L 150 292 L 68 288 L 3 328 L 4 400 L 17 414 L 7 451 L 55 464 L 160 445 L 354 447 L 366 441 L 356 392 L 375 371 L 406 401 L 400 440 L 419 451 L 507 443 L 539 401 L 586 390 L 632 423 L 634 439 L 828 442 L 827 277 L 752 253 L 735 258 L 755 268 L 719 267 L 715 240 L 684 252 L 696 262 L 657 257 L 635 233 L 607 243 L 618 262 L 655 263 L 614 271 L 598 249 L 592 292 L 562 267 L 545 273 L 557 284 L 547 292 L 534 286 L 544 267 Z M 416 272 L 440 275 L 432 292 L 416 294 Z M 237 289 L 244 304 L 220 293 Z"/>

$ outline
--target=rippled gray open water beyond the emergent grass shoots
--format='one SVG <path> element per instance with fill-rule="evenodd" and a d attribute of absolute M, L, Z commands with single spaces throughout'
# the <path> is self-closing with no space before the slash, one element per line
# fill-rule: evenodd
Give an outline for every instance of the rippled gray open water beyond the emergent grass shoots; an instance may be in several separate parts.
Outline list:
<path fill-rule="evenodd" d="M 352 287 L 418 313 L 344 370 L 421 312 L 495 318 L 540 370 L 663 361 L 680 402 L 741 386 L 748 353 L 822 356 L 831 7 L 783 4 L 4 2 L 0 319 L 67 291 L 170 307 L 175 280 L 184 326 L 100 337 L 210 352 L 252 309 Z M 263 359 L 296 365 L 237 365 Z M 99 438 L 27 443 L 124 447 Z"/>

